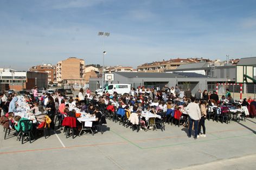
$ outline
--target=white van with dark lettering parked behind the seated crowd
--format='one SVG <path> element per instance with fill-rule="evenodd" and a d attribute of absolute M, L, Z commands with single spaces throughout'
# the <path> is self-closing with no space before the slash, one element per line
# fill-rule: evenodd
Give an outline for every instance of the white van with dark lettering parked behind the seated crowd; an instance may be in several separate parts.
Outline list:
<path fill-rule="evenodd" d="M 104 88 L 104 92 L 113 94 L 116 91 L 118 94 L 130 93 L 131 85 L 130 84 L 109 84 Z M 102 90 L 97 89 L 95 92 L 102 95 Z"/>

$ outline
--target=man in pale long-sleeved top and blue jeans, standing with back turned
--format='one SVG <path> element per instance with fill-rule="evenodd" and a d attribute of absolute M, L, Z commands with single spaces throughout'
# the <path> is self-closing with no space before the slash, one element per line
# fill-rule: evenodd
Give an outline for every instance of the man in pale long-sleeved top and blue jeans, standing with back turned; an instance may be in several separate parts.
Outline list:
<path fill-rule="evenodd" d="M 189 115 L 189 130 L 188 130 L 188 137 L 191 138 L 191 131 L 192 131 L 192 126 L 194 123 L 194 128 L 195 128 L 195 139 L 197 139 L 197 130 L 198 130 L 198 124 L 199 120 L 201 119 L 201 111 L 199 104 L 195 103 L 195 98 L 191 97 L 191 103 L 188 104 L 186 107 L 186 111 Z"/>

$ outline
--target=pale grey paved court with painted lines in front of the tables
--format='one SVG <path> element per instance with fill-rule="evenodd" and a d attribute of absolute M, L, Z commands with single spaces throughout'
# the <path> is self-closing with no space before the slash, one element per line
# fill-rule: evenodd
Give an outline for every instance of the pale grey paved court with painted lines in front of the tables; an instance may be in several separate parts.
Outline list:
<path fill-rule="evenodd" d="M 107 121 L 104 134 L 66 139 L 62 131 L 21 145 L 0 132 L 3 169 L 254 169 L 256 119 L 206 121 L 207 137 L 187 137 L 182 126 L 136 131 Z M 1 128 L 2 129 L 2 128 Z"/>

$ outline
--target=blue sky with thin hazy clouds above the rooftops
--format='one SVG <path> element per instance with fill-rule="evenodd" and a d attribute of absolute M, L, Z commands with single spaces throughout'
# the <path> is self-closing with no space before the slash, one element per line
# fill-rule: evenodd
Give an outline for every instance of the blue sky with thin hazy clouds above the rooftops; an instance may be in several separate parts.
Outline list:
<path fill-rule="evenodd" d="M 256 56 L 256 1 L 0 0 L 0 67 L 67 57 L 136 67 L 170 58 Z"/>

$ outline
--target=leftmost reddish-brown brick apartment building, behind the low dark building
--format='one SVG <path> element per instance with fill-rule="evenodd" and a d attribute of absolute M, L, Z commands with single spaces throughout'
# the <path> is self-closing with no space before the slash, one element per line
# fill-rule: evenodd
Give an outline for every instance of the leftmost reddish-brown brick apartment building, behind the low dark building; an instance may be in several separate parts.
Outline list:
<path fill-rule="evenodd" d="M 52 65 L 52 64 L 37 65 L 37 66 L 31 67 L 29 71 L 39 72 L 39 73 L 48 73 L 48 82 L 52 81 L 53 83 L 56 83 L 56 80 L 57 80 L 56 65 Z"/>

